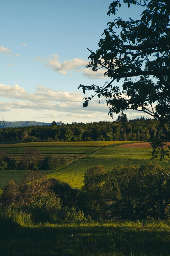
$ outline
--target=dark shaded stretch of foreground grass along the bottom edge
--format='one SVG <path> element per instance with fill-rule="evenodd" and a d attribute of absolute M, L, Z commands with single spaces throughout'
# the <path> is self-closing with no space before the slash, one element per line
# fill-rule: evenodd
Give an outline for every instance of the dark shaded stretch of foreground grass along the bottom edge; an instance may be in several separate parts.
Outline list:
<path fill-rule="evenodd" d="M 0 223 L 1 224 L 1 223 Z M 168 256 L 170 234 L 158 226 L 41 224 L 0 231 L 0 255 Z"/>

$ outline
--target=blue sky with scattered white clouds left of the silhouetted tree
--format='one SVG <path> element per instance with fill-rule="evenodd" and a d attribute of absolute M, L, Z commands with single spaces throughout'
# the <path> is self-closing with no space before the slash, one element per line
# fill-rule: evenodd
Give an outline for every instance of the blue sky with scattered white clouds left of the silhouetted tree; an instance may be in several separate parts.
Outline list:
<path fill-rule="evenodd" d="M 103 86 L 104 70 L 86 69 L 107 22 L 139 19 L 140 7 L 107 15 L 111 0 L 6 0 L 1 3 L 0 114 L 6 121 L 112 121 L 106 100 L 83 108 L 79 84 Z M 116 82 L 115 82 L 116 83 Z M 120 83 L 121 84 L 121 83 Z M 88 95 L 88 94 L 87 94 Z M 141 113 L 129 111 L 129 119 Z M 146 115 L 144 115 L 147 117 Z"/>

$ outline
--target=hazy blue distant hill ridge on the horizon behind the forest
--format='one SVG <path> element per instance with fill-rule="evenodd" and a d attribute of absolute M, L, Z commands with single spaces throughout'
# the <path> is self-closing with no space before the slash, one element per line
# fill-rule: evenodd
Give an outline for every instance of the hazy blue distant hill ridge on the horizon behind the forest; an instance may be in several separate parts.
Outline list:
<path fill-rule="evenodd" d="M 44 122 L 36 122 L 36 121 L 16 121 L 16 122 L 7 122 L 6 123 L 6 128 L 7 127 L 25 127 L 25 126 L 35 126 L 35 125 L 40 125 L 40 126 L 44 126 L 44 125 L 51 125 L 51 123 L 44 123 Z M 57 125 L 62 125 L 62 122 L 57 122 Z"/>

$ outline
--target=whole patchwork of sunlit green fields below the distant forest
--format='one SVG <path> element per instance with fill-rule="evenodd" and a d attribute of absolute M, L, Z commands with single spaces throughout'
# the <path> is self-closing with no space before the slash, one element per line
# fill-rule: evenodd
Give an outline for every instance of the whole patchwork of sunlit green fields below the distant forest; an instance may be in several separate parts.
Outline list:
<path fill-rule="evenodd" d="M 0 150 L 5 149 L 9 156 L 17 161 L 21 160 L 22 151 L 29 146 L 38 147 L 42 153 L 42 159 L 49 153 L 63 155 L 69 161 L 68 165 L 53 171 L 48 177 L 61 179 L 72 187 L 81 189 L 87 168 L 102 164 L 107 171 L 111 171 L 116 165 L 141 165 L 150 161 L 150 148 L 115 147 L 127 143 L 137 142 L 33 142 L 0 144 Z M 169 162 L 164 161 L 159 164 L 166 166 Z M 18 181 L 23 173 L 24 171 L 20 170 L 0 170 L 0 189 L 4 188 L 7 180 Z"/>

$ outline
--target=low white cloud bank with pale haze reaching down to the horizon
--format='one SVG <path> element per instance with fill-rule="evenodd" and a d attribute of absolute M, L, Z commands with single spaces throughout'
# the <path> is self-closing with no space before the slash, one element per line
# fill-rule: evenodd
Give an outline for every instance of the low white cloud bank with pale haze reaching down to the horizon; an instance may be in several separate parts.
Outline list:
<path fill-rule="evenodd" d="M 83 108 L 83 96 L 80 92 L 58 92 L 51 88 L 36 86 L 35 92 L 28 93 L 17 84 L 0 84 L 0 96 L 10 99 L 0 102 L 0 111 L 6 113 L 6 120 L 9 121 L 29 121 L 34 117 L 36 121 L 62 120 L 64 123 L 71 123 L 117 118 L 117 114 L 114 114 L 114 119 L 108 116 L 108 107 L 103 98 L 100 104 L 98 99 L 93 99 L 88 108 Z M 143 115 L 133 110 L 127 111 L 126 114 L 129 119 Z"/>

